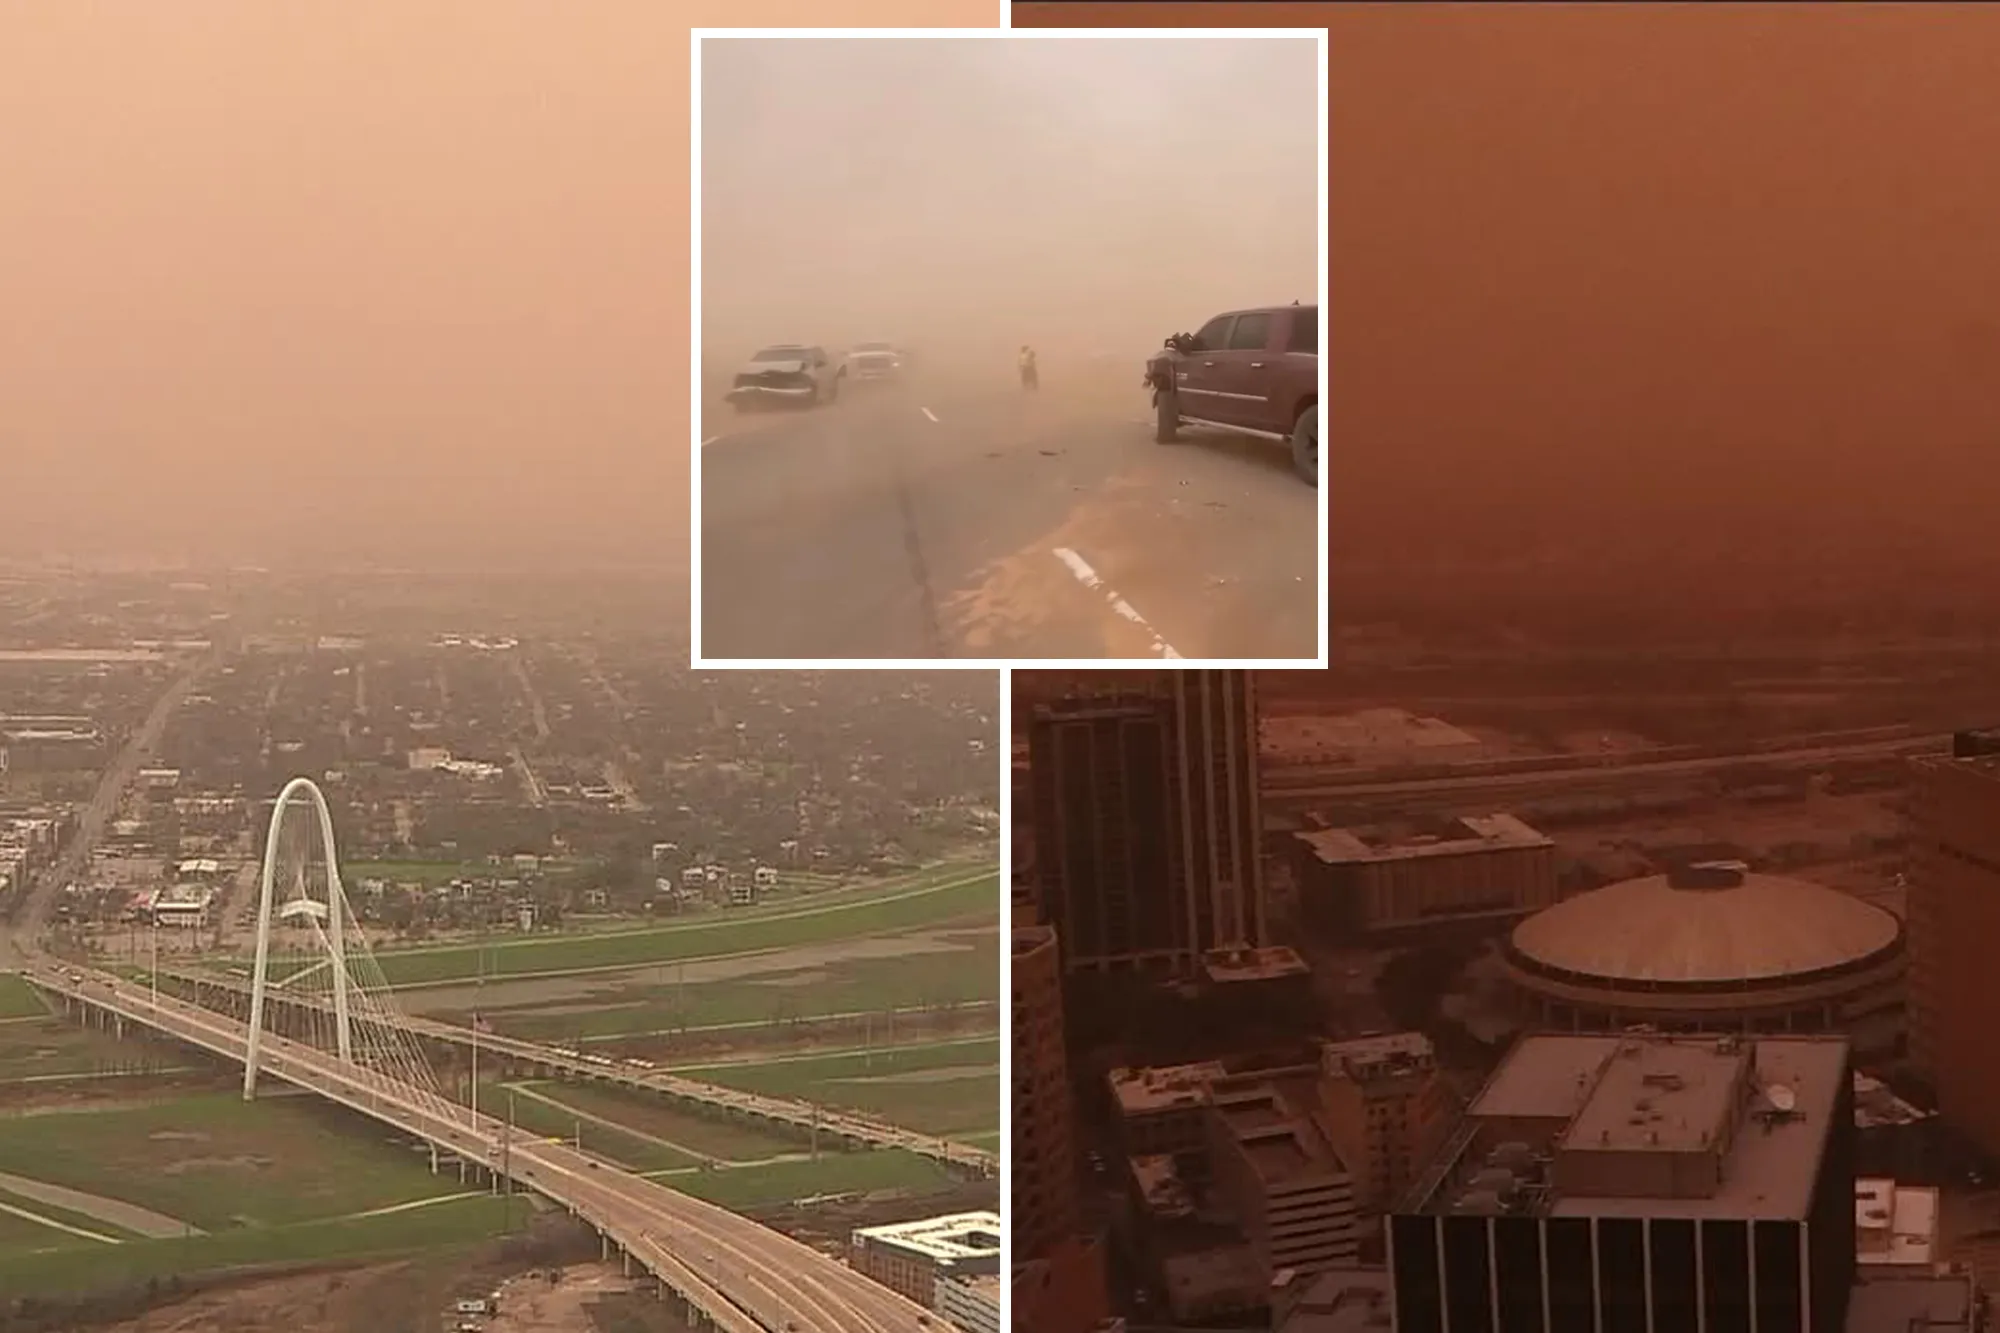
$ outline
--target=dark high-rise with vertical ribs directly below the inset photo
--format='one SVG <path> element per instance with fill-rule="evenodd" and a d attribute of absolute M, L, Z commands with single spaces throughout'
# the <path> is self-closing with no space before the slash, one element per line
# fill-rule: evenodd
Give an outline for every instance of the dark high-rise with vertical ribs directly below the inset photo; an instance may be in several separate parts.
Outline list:
<path fill-rule="evenodd" d="M 1250 673 L 1048 699 L 1028 753 L 1036 885 L 1068 969 L 1192 973 L 1264 943 Z"/>

